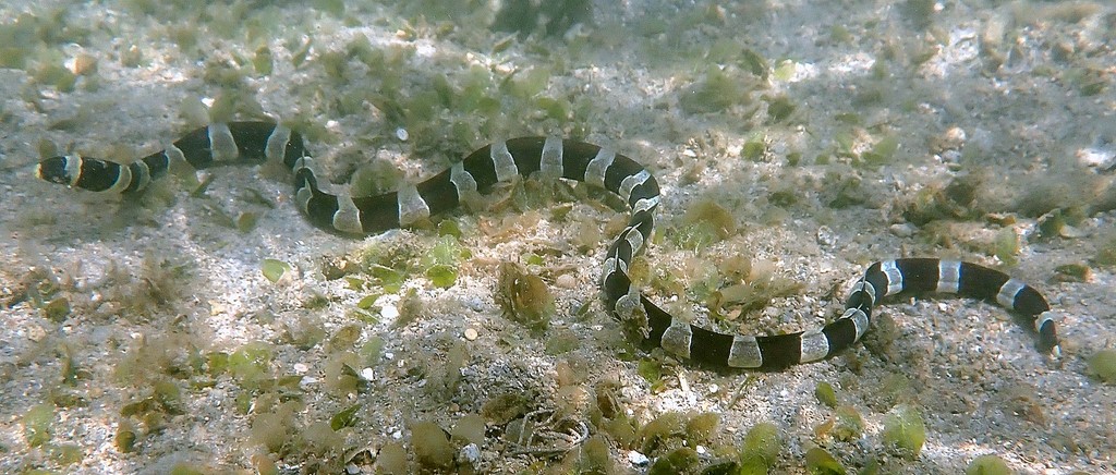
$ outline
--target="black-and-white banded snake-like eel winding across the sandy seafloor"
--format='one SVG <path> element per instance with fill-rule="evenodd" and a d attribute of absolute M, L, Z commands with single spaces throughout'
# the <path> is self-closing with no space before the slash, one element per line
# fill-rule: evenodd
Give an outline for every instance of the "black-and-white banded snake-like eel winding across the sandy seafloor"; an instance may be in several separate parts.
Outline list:
<path fill-rule="evenodd" d="M 881 299 L 926 291 L 994 301 L 1032 320 L 1040 350 L 1055 355 L 1059 351 L 1050 306 L 1035 288 L 993 269 L 939 259 L 895 259 L 869 265 L 849 292 L 840 317 L 819 329 L 769 336 L 725 335 L 675 318 L 647 299 L 632 283 L 628 272 L 654 227 L 658 183 L 632 158 L 583 142 L 554 137 L 497 142 L 426 181 L 377 196 L 323 191 L 301 136 L 269 122 L 212 124 L 128 165 L 79 155 L 55 156 L 41 161 L 37 174 L 48 182 L 93 192 L 134 193 L 165 175 L 173 161 L 205 168 L 263 159 L 282 161 L 294 172 L 296 201 L 312 224 L 348 235 L 377 234 L 445 213 L 517 175 L 538 173 L 607 190 L 627 203 L 631 216 L 605 253 L 600 287 L 606 308 L 623 322 L 637 322 L 644 345 L 661 346 L 701 365 L 781 369 L 822 360 L 865 335 L 873 308 Z"/>

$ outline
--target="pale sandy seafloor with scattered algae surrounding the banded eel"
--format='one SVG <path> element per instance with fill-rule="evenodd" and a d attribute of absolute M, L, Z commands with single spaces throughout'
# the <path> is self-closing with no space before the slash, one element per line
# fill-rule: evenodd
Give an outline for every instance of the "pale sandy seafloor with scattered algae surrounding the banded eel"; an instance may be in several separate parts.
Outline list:
<path fill-rule="evenodd" d="M 1106 245 L 1112 252 L 1116 223 L 1114 174 L 1105 172 L 1116 154 L 1110 4 L 596 2 L 589 21 L 564 36 L 516 38 L 488 28 L 496 6 L 485 1 L 429 2 L 442 11 L 425 19 L 422 2 L 348 4 L 343 12 L 339 2 L 264 3 L 0 7 L 2 25 L 27 13 L 41 22 L 18 37 L 23 65 L 0 69 L 0 472 L 166 473 L 176 464 L 250 472 L 263 459 L 312 471 L 344 453 L 375 454 L 392 442 L 408 447 L 412 421 L 449 429 L 496 395 L 526 395 L 529 410 L 546 411 L 600 381 L 617 384 L 622 406 L 641 424 L 667 411 L 719 414 L 719 434 L 696 447 L 705 456 L 740 444 L 758 423 L 773 423 L 782 445 L 772 473 L 805 473 L 811 447 L 850 472 L 876 461 L 881 473 L 961 473 L 984 454 L 1016 473 L 1116 472 L 1116 387 L 1090 377 L 1086 363 L 1116 346 L 1116 269 L 1096 260 Z M 920 13 L 920 6 L 932 11 Z M 392 71 L 345 55 L 362 36 L 373 50 L 398 58 Z M 250 61 L 264 46 L 275 62 L 266 75 Z M 296 67 L 299 49 L 306 58 Z M 767 78 L 747 70 L 744 50 L 766 59 Z M 96 68 L 69 91 L 42 72 L 81 68 L 79 57 L 96 59 Z M 723 70 L 735 98 L 684 109 L 685 91 L 711 69 Z M 529 206 L 525 220 L 520 206 L 448 216 L 460 223 L 471 256 L 449 289 L 408 275 L 404 288 L 416 290 L 422 311 L 397 328 L 405 290 L 376 300 L 373 318 L 355 319 L 358 301 L 382 291 L 326 280 L 321 262 L 376 243 L 426 250 L 436 241 L 431 229 L 366 240 L 321 232 L 292 204 L 288 178 L 257 167 L 213 171 L 202 197 L 172 181 L 140 204 L 35 178 L 40 151 L 51 147 L 116 158 L 158 149 L 199 125 L 200 108 L 190 104 L 222 93 L 214 79 L 222 70 L 241 71 L 239 94 L 263 112 L 318 127 L 321 138 L 308 147 L 338 182 L 352 164 L 376 156 L 417 180 L 473 147 L 517 135 L 575 134 L 614 146 L 646 164 L 663 188 L 657 231 L 667 236 L 646 254 L 652 272 L 685 278 L 742 254 L 802 283 L 745 312 L 735 324 L 744 331 L 817 327 L 839 313 L 839 297 L 873 260 L 937 255 L 1001 268 L 1040 289 L 1060 326 L 1061 358 L 1039 353 L 1032 332 L 993 304 L 902 298 L 879 311 L 896 327 L 888 341 L 869 333 L 867 345 L 846 356 L 769 374 L 722 374 L 657 356 L 662 387 L 652 390 L 635 361 L 617 358 L 623 345 L 593 290 L 607 235 L 599 244 L 573 244 L 585 238 L 586 222 L 615 231 L 623 220 L 599 205 L 599 195 L 561 192 L 566 197 Z M 531 71 L 526 93 L 508 93 L 509 83 L 527 81 Z M 443 98 L 421 125 L 373 105 L 384 91 L 412 100 L 440 77 L 454 94 L 480 85 L 487 106 Z M 788 117 L 768 107 L 779 97 L 795 106 Z M 549 99 L 570 101 L 569 114 L 548 117 Z M 478 118 L 484 107 L 488 116 Z M 702 107 L 710 110 L 695 110 Z M 400 127 L 407 128 L 406 142 L 392 136 Z M 424 134 L 445 138 L 420 139 Z M 884 137 L 898 148 L 866 163 L 864 153 Z M 745 143 L 758 140 L 762 153 L 742 156 Z M 959 176 L 978 177 L 973 202 L 959 205 L 963 216 L 905 217 L 912 202 L 933 195 L 927 190 Z M 720 203 L 737 229 L 698 253 L 679 249 L 666 230 L 683 226 L 680 216 L 702 200 Z M 570 207 L 566 221 L 555 217 L 561 206 Z M 214 209 L 261 217 L 241 232 L 214 217 Z M 1068 210 L 1071 225 L 1062 236 L 1040 236 L 1038 216 L 1052 209 Z M 992 244 L 1012 232 L 1020 243 L 1013 265 Z M 531 254 L 545 258 L 532 269 L 557 298 L 558 313 L 542 336 L 509 321 L 492 297 L 499 262 Z M 269 282 L 263 259 L 289 263 L 292 275 Z M 1091 273 L 1067 279 L 1057 270 L 1065 264 L 1086 264 Z M 70 313 L 48 319 L 36 291 L 65 298 Z M 677 297 L 661 293 L 654 298 Z M 591 302 L 588 313 L 575 316 L 584 302 Z M 702 316 L 701 306 L 691 313 Z M 354 322 L 355 342 L 329 342 Z M 312 343 L 316 330 L 325 332 L 320 342 L 298 345 Z M 547 350 L 549 340 L 570 335 L 574 350 Z M 330 386 L 328 367 L 338 355 L 356 355 L 377 337 L 386 341 L 378 359 L 355 363 L 368 377 L 365 390 L 346 395 Z M 252 392 L 228 372 L 210 377 L 191 359 L 253 341 L 273 353 L 269 377 L 301 379 Z M 468 349 L 460 380 L 449 394 L 432 389 L 452 381 L 437 371 L 455 345 Z M 556 365 L 570 361 L 584 374 L 564 382 L 574 390 L 559 389 Z M 896 380 L 905 386 L 888 396 L 882 388 Z M 814 396 L 820 381 L 863 416 L 859 438 L 816 435 L 834 413 Z M 179 390 L 173 407 L 122 415 L 156 387 L 167 394 L 166 385 Z M 251 427 L 269 408 L 280 410 L 277 399 L 296 403 L 287 406 L 288 445 L 268 455 Z M 917 407 L 925 421 L 926 443 L 913 459 L 882 440 L 885 414 L 898 401 Z M 23 417 L 41 404 L 52 407 L 51 435 L 31 447 Z M 360 407 L 353 427 L 307 435 L 354 404 Z M 114 443 L 122 421 L 137 434 L 129 453 Z M 568 457 L 516 455 L 502 429 L 490 423 L 478 446 L 479 472 L 531 472 Z M 59 455 L 64 447 L 78 454 L 70 463 Z M 639 455 L 632 447 L 610 447 L 616 472 L 645 469 L 633 465 Z M 355 458 L 349 468 L 371 471 L 366 462 Z"/>

